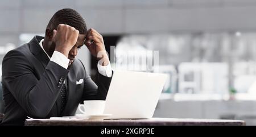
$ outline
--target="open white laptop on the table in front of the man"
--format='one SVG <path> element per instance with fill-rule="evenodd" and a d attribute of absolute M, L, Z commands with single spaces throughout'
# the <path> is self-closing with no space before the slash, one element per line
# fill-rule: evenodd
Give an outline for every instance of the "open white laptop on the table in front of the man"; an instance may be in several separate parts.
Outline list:
<path fill-rule="evenodd" d="M 152 118 L 167 75 L 115 70 L 104 114 L 108 119 Z"/>

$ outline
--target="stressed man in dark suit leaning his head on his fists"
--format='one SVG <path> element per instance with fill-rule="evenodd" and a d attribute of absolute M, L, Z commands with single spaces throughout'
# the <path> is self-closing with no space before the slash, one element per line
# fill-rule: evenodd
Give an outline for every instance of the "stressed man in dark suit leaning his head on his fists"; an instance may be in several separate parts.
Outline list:
<path fill-rule="evenodd" d="M 84 44 L 99 60 L 98 86 L 75 58 Z M 4 57 L 1 124 L 23 125 L 27 116 L 75 115 L 80 102 L 106 98 L 112 73 L 102 36 L 87 30 L 75 10 L 59 10 L 49 20 L 44 37 L 35 36 Z"/>

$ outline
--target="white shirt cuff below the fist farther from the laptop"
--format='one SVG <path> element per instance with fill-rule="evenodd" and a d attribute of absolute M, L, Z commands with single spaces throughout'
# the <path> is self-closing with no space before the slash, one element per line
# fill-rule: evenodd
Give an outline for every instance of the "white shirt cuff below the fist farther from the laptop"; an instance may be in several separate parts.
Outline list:
<path fill-rule="evenodd" d="M 63 53 L 54 51 L 51 57 L 51 61 L 59 64 L 61 67 L 67 69 L 69 64 L 69 59 Z"/>

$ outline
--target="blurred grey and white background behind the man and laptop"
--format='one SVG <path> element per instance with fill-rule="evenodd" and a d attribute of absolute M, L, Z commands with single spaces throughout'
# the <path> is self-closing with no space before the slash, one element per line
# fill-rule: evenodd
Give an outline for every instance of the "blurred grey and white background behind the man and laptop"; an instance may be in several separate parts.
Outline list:
<path fill-rule="evenodd" d="M 114 69 L 168 74 L 154 117 L 256 125 L 256 0 L 1 0 L 0 63 L 67 7 L 104 36 Z M 130 51 L 149 51 L 140 59 L 154 65 Z M 86 47 L 79 58 L 95 80 L 97 60 Z"/>

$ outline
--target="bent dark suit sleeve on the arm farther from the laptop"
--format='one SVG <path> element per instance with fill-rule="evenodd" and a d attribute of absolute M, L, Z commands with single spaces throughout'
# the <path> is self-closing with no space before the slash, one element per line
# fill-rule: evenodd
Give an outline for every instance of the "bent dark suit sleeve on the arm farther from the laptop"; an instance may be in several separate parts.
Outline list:
<path fill-rule="evenodd" d="M 20 51 L 7 53 L 2 63 L 2 82 L 30 117 L 44 118 L 52 109 L 69 70 L 49 61 L 40 80 L 29 59 Z"/>

